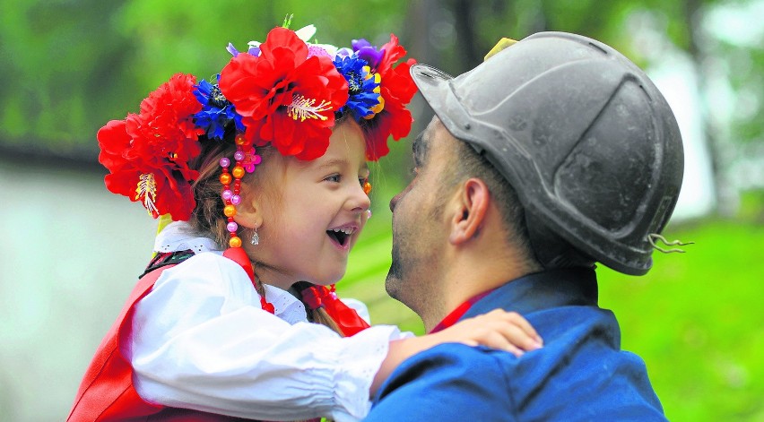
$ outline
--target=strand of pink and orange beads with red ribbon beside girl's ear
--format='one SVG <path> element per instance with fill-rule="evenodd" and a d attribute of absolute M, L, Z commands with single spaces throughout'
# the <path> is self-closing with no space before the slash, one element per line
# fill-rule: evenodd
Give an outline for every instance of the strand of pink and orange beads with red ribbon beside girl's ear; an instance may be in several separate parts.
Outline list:
<path fill-rule="evenodd" d="M 247 152 L 245 152 L 245 148 L 247 148 Z M 241 203 L 241 196 L 239 195 L 241 194 L 241 178 L 244 177 L 246 174 L 245 172 L 252 173 L 255 171 L 256 165 L 260 164 L 262 158 L 256 154 L 255 148 L 247 142 L 244 135 L 239 133 L 236 135 L 236 152 L 233 154 L 233 159 L 236 161 L 236 164 L 230 172 L 228 169 L 230 168 L 230 159 L 228 157 L 223 157 L 220 160 L 222 168 L 220 181 L 223 185 L 221 198 L 225 204 L 223 206 L 223 214 L 228 218 L 226 229 L 230 233 L 230 239 L 228 241 L 229 248 L 223 252 L 223 256 L 241 265 L 241 268 L 247 272 L 249 279 L 252 280 L 252 284 L 260 294 L 260 306 L 264 311 L 274 314 L 275 309 L 273 308 L 273 304 L 270 304 L 265 300 L 265 289 L 263 289 L 259 281 L 256 280 L 255 270 L 252 268 L 249 256 L 247 256 L 247 253 L 241 247 L 241 237 L 237 234 L 239 224 L 233 219 L 234 216 L 236 216 L 236 206 Z M 232 186 L 231 182 L 233 182 Z"/>

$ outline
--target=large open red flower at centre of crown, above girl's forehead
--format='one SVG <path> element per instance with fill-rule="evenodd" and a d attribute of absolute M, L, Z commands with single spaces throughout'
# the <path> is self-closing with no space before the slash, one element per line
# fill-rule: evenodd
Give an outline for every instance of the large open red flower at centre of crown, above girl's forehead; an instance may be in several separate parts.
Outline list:
<path fill-rule="evenodd" d="M 233 57 L 219 85 L 242 116 L 248 142 L 271 142 L 282 155 L 298 159 L 326 152 L 334 112 L 348 99 L 347 81 L 332 59 L 308 57 L 305 42 L 281 27 L 268 33 L 259 56 Z"/>

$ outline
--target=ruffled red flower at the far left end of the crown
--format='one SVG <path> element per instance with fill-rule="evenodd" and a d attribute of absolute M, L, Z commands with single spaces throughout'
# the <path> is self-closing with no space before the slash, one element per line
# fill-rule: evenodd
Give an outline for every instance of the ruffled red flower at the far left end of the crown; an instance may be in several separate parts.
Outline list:
<path fill-rule="evenodd" d="M 175 74 L 141 103 L 141 113 L 112 120 L 98 132 L 99 161 L 109 169 L 106 187 L 141 201 L 157 218 L 188 220 L 195 201 L 189 181 L 198 172 L 188 160 L 200 152 L 192 116 L 202 108 L 192 75 Z"/>

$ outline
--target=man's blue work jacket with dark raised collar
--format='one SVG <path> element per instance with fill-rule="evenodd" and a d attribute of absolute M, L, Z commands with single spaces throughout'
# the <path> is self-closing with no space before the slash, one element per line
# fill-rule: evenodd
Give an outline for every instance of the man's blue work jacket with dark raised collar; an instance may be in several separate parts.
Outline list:
<path fill-rule="evenodd" d="M 453 343 L 426 350 L 395 369 L 365 420 L 665 420 L 644 361 L 621 350 L 614 315 L 597 306 L 594 270 L 527 275 L 463 318 L 496 308 L 523 314 L 543 349 L 523 357 Z"/>

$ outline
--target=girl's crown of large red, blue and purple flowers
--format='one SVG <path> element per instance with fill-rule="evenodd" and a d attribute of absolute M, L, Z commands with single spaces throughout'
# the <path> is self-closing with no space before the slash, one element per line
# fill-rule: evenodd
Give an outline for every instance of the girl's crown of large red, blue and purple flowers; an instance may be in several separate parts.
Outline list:
<path fill-rule="evenodd" d="M 154 218 L 189 220 L 195 208 L 191 182 L 199 177 L 189 162 L 202 151 L 200 137 L 222 141 L 236 133 L 233 180 L 226 180 L 235 182 L 237 192 L 223 193 L 230 205 L 243 171 L 259 163 L 255 147 L 270 144 L 284 156 L 317 159 L 326 152 L 335 119 L 350 115 L 365 133 L 367 159 L 377 160 L 389 151 L 390 135 L 399 140 L 410 132 L 413 119 L 405 105 L 416 92 L 409 74 L 415 61 L 395 65 L 406 54 L 395 35 L 380 48 L 365 39 L 337 48 L 309 43 L 313 25 L 287 27 L 274 28 L 263 43 L 250 42 L 247 52 L 229 44 L 233 57 L 216 83 L 174 74 L 143 99 L 138 114 L 104 125 L 99 161 L 109 169 L 109 191 L 142 202 Z M 221 162 L 224 174 L 229 164 Z"/>

